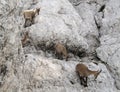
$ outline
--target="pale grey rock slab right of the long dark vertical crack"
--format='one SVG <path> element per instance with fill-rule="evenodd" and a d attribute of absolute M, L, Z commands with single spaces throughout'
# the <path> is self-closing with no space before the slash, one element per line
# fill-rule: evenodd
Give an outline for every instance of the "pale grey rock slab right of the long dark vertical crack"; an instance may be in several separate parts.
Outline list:
<path fill-rule="evenodd" d="M 104 10 L 104 18 L 101 20 L 102 26 L 100 29 L 101 46 L 97 48 L 98 57 L 108 64 L 112 76 L 115 79 L 115 85 L 120 89 L 120 42 L 119 42 L 119 11 L 120 1 L 115 0 L 114 3 L 110 0 L 106 4 Z"/>

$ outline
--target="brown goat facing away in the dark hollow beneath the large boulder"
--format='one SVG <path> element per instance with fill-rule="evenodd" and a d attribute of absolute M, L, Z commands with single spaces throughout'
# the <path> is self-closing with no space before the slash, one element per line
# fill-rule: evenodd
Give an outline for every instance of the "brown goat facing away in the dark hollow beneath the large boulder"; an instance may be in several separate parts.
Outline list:
<path fill-rule="evenodd" d="M 64 45 L 62 45 L 61 43 L 56 43 L 55 44 L 55 51 L 56 54 L 58 54 L 58 57 L 60 58 L 61 55 L 65 57 L 66 61 L 68 59 L 68 54 L 67 54 L 67 50 L 65 48 Z"/>

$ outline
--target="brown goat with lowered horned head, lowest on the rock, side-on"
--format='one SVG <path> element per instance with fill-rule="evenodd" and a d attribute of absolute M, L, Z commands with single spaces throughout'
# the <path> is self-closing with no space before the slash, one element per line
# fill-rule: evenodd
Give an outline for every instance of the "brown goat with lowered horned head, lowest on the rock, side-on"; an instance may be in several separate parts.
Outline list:
<path fill-rule="evenodd" d="M 76 72 L 78 73 L 78 75 L 80 77 L 81 85 L 84 85 L 85 87 L 87 87 L 88 76 L 93 74 L 96 79 L 101 71 L 92 71 L 92 70 L 89 70 L 88 67 L 84 64 L 77 64 Z"/>

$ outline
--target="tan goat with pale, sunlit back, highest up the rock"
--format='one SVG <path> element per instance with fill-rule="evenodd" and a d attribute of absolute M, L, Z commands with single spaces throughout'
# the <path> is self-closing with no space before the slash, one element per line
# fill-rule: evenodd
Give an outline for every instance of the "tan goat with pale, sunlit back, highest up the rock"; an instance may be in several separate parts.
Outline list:
<path fill-rule="evenodd" d="M 36 16 L 36 14 L 39 15 L 39 12 L 40 12 L 40 8 L 36 8 L 36 9 L 32 9 L 32 10 L 25 10 L 23 11 L 23 15 L 24 15 L 24 18 L 25 18 L 25 24 L 24 24 L 24 27 L 27 27 L 27 26 L 31 26 L 31 24 L 34 24 L 34 18 Z M 31 24 L 27 24 L 27 21 L 30 21 Z"/>

